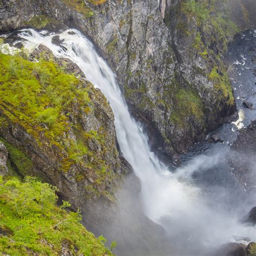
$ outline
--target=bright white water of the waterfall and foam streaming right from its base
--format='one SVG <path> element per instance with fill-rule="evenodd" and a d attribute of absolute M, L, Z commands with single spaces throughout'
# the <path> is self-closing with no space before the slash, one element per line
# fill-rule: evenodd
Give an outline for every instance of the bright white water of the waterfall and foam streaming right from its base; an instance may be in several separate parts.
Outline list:
<path fill-rule="evenodd" d="M 120 150 L 142 183 L 141 199 L 144 212 L 150 219 L 173 233 L 194 233 L 192 240 L 199 236 L 198 240 L 205 246 L 235 241 L 235 237 L 256 240 L 255 228 L 239 224 L 237 215 L 228 215 L 221 207 L 208 207 L 200 189 L 190 182 L 194 171 L 201 166 L 212 167 L 218 163 L 220 155 L 198 157 L 180 169 L 178 174 L 170 173 L 151 152 L 142 127 L 130 116 L 114 73 L 86 37 L 77 30 L 68 30 L 75 32 L 75 35 L 69 35 L 68 31 L 60 33 L 62 45 L 68 49 L 64 51 L 51 43 L 52 35 L 26 31 L 20 34 L 27 40 L 23 42 L 25 48 L 31 50 L 38 44 L 44 44 L 56 56 L 71 59 L 83 70 L 86 79 L 109 100 Z M 218 192 L 221 194 L 221 191 Z M 163 221 L 166 218 L 170 221 Z"/>

